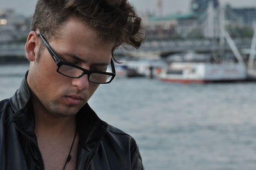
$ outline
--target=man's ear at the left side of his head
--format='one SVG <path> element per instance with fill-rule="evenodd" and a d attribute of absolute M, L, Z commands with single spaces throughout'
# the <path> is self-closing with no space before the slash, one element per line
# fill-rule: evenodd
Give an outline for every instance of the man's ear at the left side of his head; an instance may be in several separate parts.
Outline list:
<path fill-rule="evenodd" d="M 29 61 L 35 61 L 37 51 L 39 50 L 38 36 L 35 31 L 31 31 L 28 35 L 28 39 L 25 45 L 26 57 Z"/>

